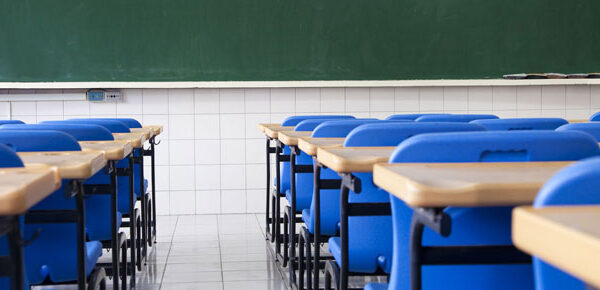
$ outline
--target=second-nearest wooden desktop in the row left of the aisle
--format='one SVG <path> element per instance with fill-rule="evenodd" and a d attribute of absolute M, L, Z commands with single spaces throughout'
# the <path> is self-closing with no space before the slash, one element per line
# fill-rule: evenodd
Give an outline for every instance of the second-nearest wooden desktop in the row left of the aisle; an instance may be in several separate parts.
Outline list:
<path fill-rule="evenodd" d="M 106 165 L 100 151 L 19 152 L 21 160 L 31 164 L 55 167 L 61 179 L 87 179 Z"/>

